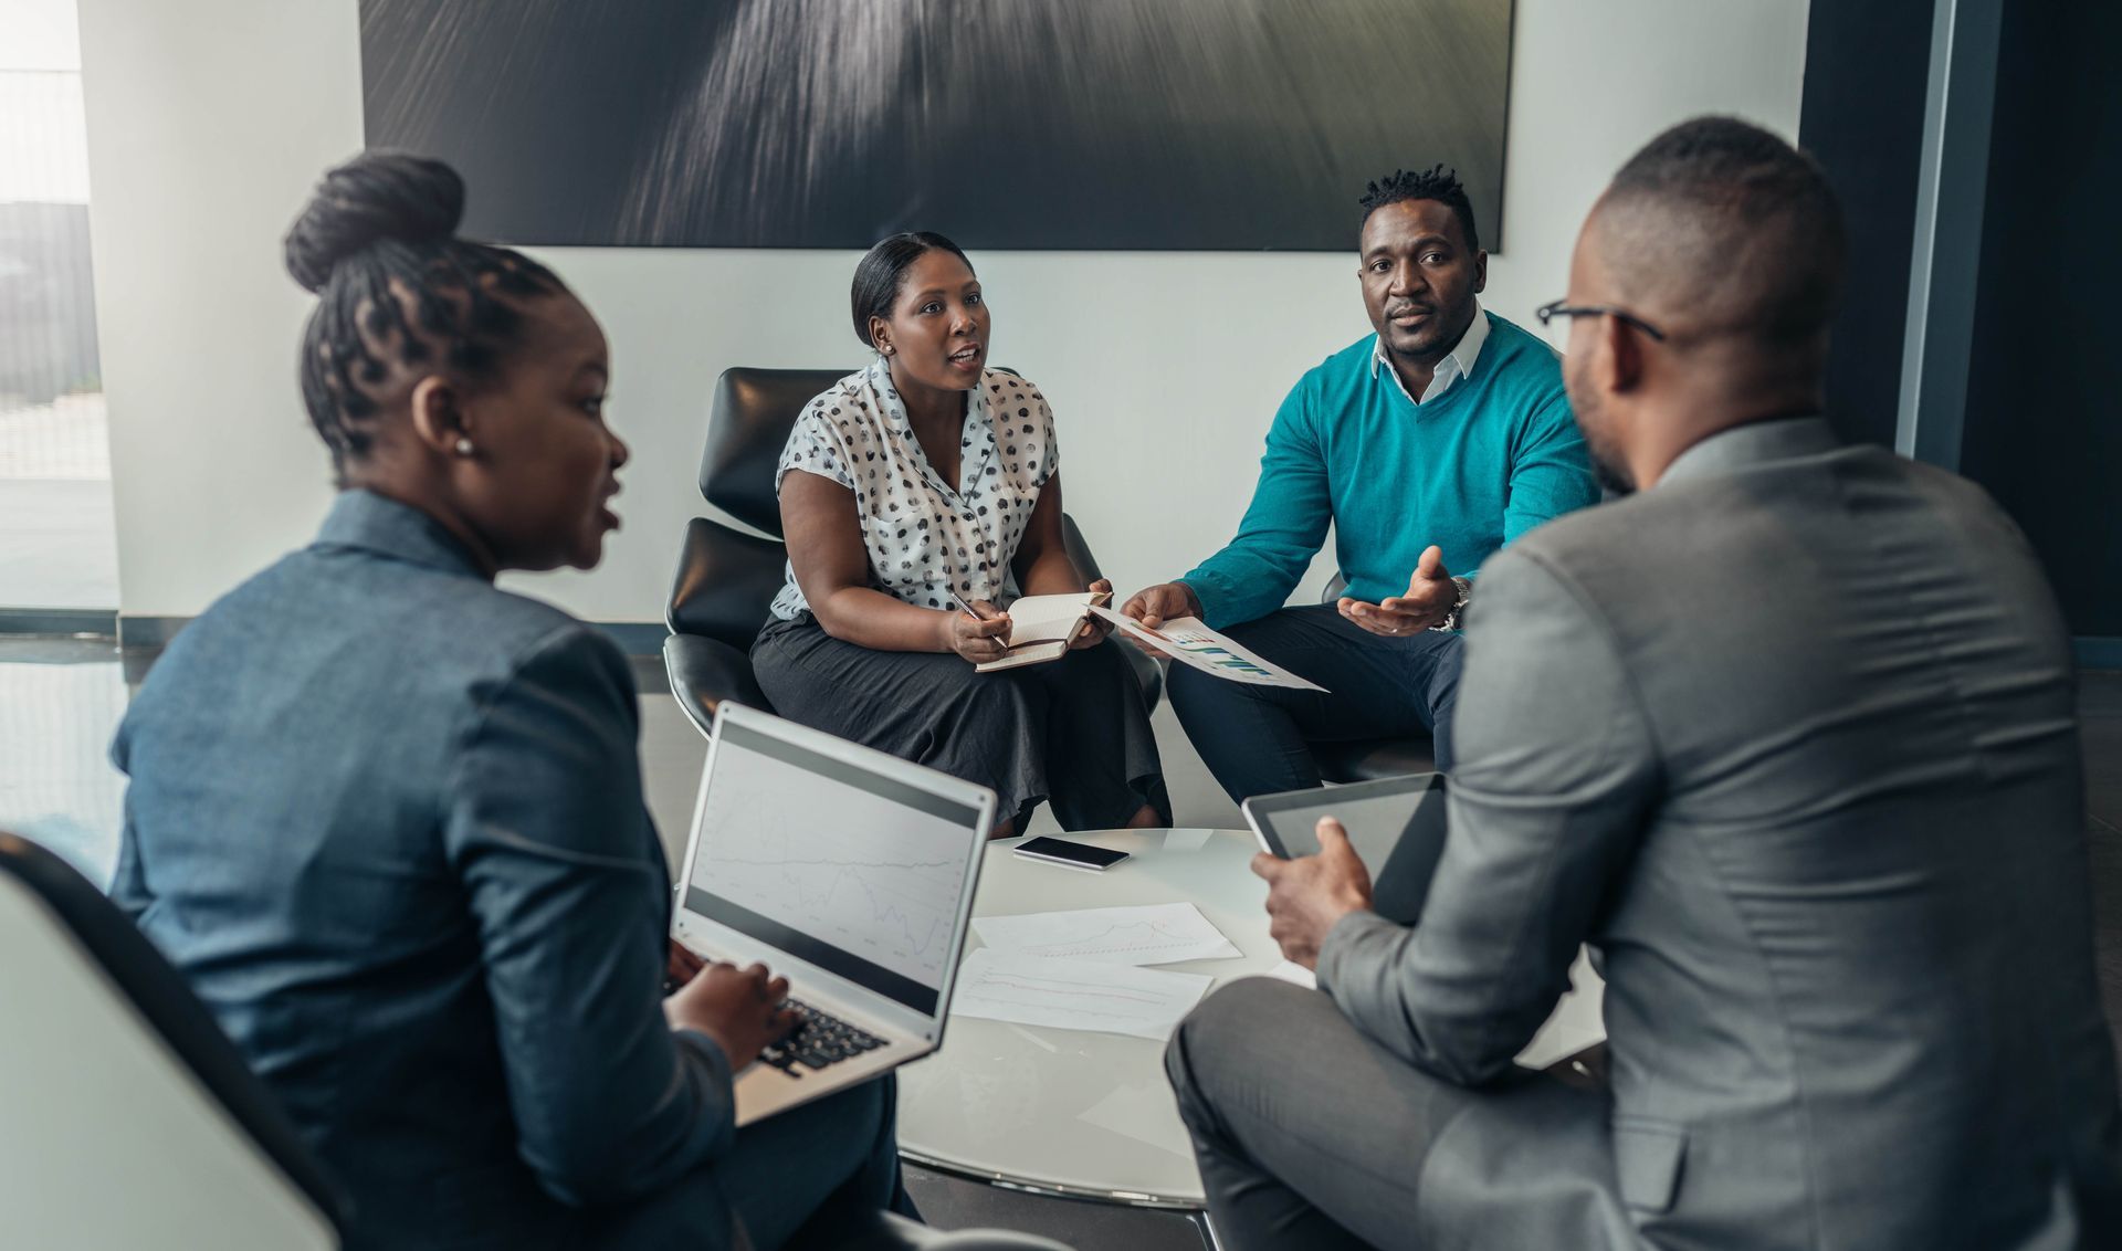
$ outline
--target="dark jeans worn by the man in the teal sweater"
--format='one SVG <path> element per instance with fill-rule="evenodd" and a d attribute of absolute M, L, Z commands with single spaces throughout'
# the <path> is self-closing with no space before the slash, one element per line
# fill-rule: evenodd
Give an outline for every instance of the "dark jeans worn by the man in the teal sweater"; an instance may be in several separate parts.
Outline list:
<path fill-rule="evenodd" d="M 1424 630 L 1381 638 L 1333 604 L 1282 609 L 1224 634 L 1328 691 L 1248 687 L 1171 666 L 1171 706 L 1180 725 L 1233 799 L 1318 787 L 1314 740 L 1428 732 L 1437 740 L 1437 768 L 1451 768 L 1458 634 Z"/>

